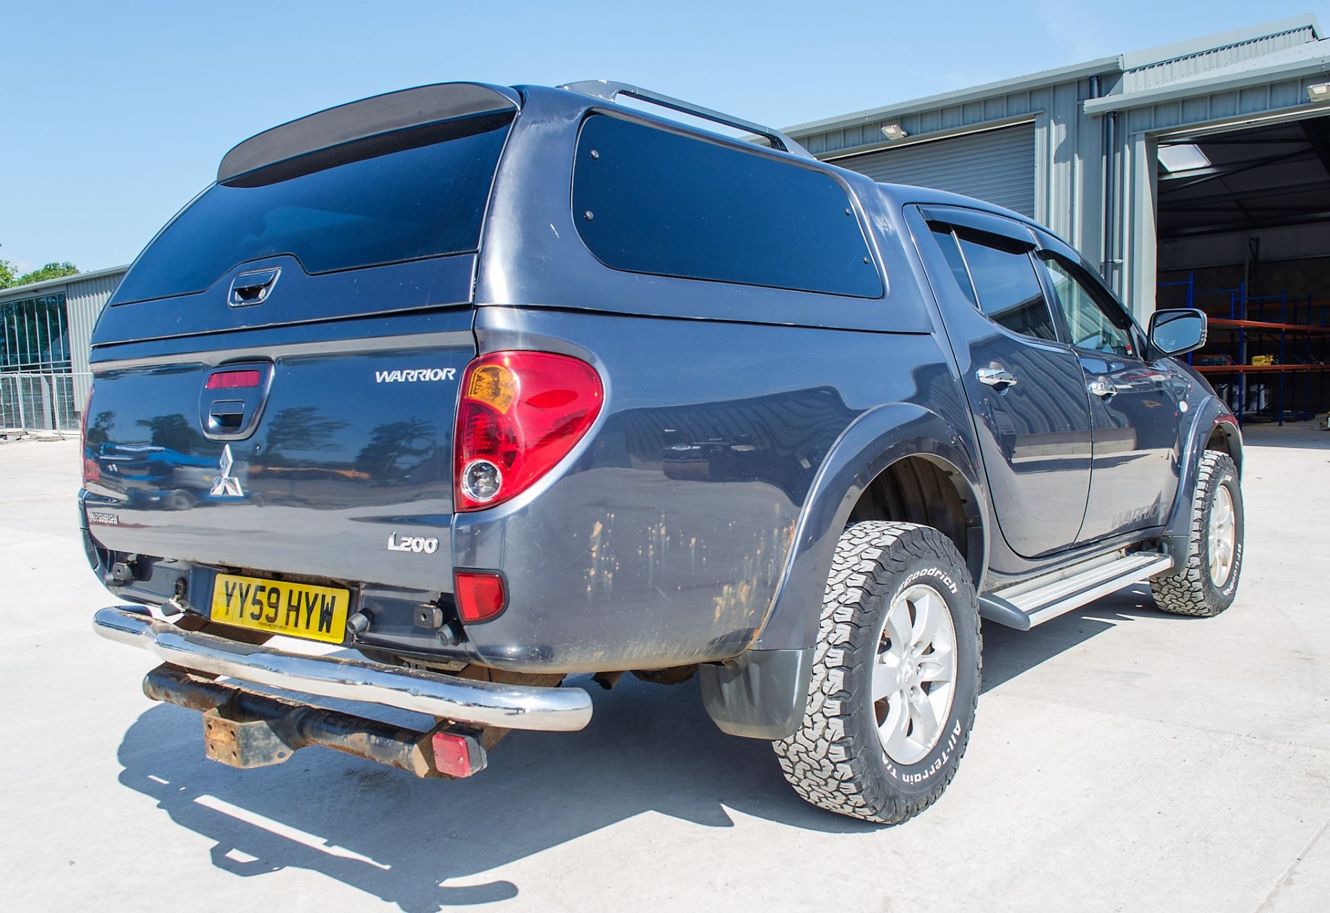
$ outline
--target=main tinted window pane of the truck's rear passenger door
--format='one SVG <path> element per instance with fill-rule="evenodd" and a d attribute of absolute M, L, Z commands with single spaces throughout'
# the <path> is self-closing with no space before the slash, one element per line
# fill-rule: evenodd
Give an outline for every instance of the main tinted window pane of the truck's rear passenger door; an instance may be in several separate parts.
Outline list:
<path fill-rule="evenodd" d="M 1056 339 L 1053 315 L 1029 257 L 1033 245 L 982 232 L 956 230 L 979 309 L 1012 333 Z"/>

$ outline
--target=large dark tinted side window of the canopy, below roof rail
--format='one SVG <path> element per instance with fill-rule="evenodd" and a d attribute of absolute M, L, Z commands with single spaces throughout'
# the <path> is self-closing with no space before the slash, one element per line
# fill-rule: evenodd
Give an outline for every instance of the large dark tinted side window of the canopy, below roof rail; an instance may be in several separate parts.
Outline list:
<path fill-rule="evenodd" d="M 845 188 L 794 161 L 593 114 L 572 204 L 583 242 L 613 269 L 882 295 Z"/>

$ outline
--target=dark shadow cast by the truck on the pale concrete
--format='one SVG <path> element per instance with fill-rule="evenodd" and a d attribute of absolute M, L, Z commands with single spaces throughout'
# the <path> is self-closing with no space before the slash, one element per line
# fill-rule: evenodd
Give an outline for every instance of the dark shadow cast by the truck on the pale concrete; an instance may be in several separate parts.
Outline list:
<path fill-rule="evenodd" d="M 1145 614 L 1160 616 L 1137 587 L 1031 632 L 986 624 L 984 691 Z M 733 826 L 734 809 L 825 833 L 878 829 L 799 800 L 767 743 L 714 727 L 696 679 L 662 687 L 625 676 L 613 692 L 585 676 L 576 684 L 596 701 L 587 729 L 513 733 L 471 780 L 416 780 L 319 748 L 235 771 L 203 759 L 197 713 L 164 704 L 125 735 L 120 781 L 214 841 L 221 869 L 242 877 L 310 869 L 408 913 L 515 897 L 517 885 L 481 873 L 644 812 L 713 828 Z"/>

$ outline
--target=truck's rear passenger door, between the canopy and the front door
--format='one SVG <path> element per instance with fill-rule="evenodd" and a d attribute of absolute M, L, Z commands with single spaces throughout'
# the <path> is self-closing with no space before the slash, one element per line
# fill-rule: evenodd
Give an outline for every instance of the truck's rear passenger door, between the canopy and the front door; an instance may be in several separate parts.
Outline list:
<path fill-rule="evenodd" d="M 1024 225 L 954 206 L 914 209 L 924 269 L 975 415 L 994 511 L 1013 552 L 1076 542 L 1091 483 L 1091 414 L 1077 355 L 1057 338 Z"/>

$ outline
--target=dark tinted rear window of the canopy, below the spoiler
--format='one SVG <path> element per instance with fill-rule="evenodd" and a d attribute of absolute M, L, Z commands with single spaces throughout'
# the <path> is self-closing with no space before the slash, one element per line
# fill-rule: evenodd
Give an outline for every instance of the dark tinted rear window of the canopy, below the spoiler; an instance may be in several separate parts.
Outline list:
<path fill-rule="evenodd" d="M 275 254 L 331 273 L 475 252 L 512 117 L 370 137 L 215 184 L 140 256 L 116 303 L 202 291 Z"/>

